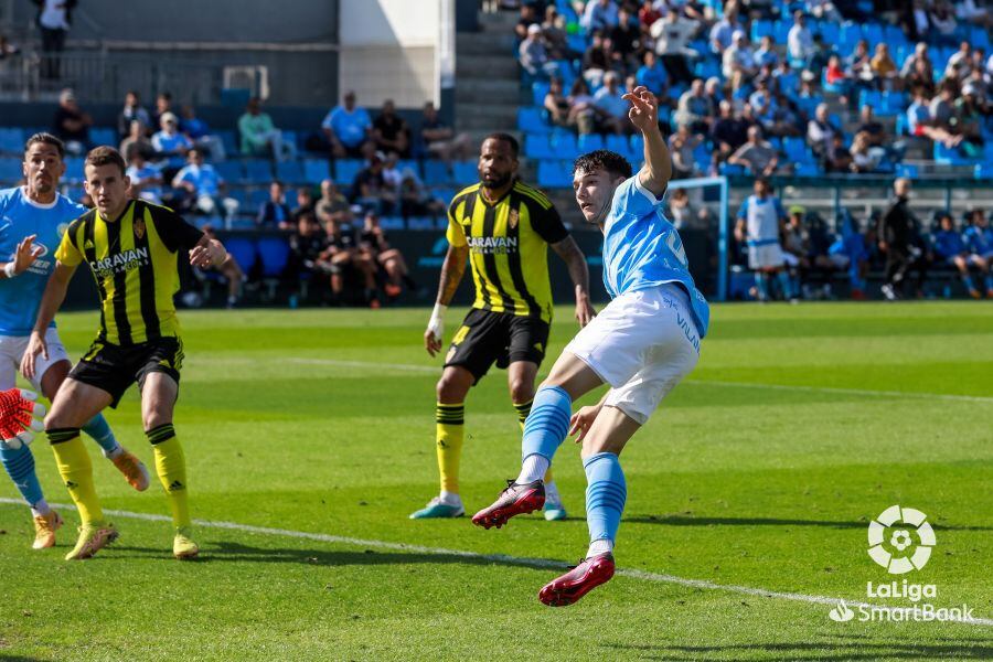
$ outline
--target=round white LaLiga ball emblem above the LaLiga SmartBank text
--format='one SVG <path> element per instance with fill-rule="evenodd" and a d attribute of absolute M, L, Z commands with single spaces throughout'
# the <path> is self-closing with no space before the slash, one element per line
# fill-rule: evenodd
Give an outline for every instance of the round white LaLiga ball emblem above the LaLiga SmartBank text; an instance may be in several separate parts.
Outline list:
<path fill-rule="evenodd" d="M 926 520 L 927 515 L 912 508 L 887 508 L 869 522 L 868 555 L 890 575 L 921 569 L 936 544 L 935 531 Z M 919 541 L 916 547 L 911 533 L 916 533 Z"/>

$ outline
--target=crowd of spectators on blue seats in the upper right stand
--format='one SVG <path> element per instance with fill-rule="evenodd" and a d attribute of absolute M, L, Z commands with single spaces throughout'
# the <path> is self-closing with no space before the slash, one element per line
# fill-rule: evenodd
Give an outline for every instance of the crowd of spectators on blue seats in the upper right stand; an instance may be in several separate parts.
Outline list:
<path fill-rule="evenodd" d="M 941 158 L 975 162 L 991 136 L 982 2 L 890 3 L 889 23 L 841 0 L 520 4 L 523 81 L 549 83 L 548 121 L 580 135 L 630 131 L 618 97 L 644 85 L 682 156 L 704 146 L 677 168 L 684 177 L 736 172 L 725 164 L 754 174 L 893 172 L 912 141 L 928 158 L 938 143 L 949 150 Z"/>

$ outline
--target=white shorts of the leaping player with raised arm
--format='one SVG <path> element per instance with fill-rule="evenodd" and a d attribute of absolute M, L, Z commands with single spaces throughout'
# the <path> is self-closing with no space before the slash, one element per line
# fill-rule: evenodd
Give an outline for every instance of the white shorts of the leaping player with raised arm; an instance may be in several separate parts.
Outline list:
<path fill-rule="evenodd" d="M 696 366 L 700 332 L 679 285 L 621 295 L 566 346 L 610 384 L 605 405 L 644 425 Z"/>

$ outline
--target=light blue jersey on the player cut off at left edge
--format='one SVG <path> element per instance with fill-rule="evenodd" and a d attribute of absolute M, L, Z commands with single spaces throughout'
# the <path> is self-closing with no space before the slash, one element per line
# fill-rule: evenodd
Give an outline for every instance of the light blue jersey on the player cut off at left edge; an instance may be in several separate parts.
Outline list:
<path fill-rule="evenodd" d="M 38 235 L 34 246 L 42 249 L 26 271 L 0 279 L 0 335 L 31 335 L 42 293 L 55 269 L 55 249 L 68 224 L 86 211 L 63 195 L 56 194 L 55 202 L 43 205 L 29 200 L 21 188 L 0 190 L 0 261 L 11 261 L 18 244 L 29 235 Z"/>

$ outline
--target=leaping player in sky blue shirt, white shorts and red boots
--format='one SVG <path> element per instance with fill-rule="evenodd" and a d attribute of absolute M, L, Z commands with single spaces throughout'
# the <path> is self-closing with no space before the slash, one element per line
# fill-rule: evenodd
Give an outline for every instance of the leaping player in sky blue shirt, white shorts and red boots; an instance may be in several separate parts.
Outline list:
<path fill-rule="evenodd" d="M 604 233 L 604 281 L 612 301 L 566 346 L 534 397 L 524 424 L 522 467 L 496 501 L 472 517 L 502 526 L 542 508 L 542 477 L 568 434 L 583 442 L 589 548 L 579 565 L 546 585 L 545 605 L 572 605 L 613 576 L 613 543 L 627 499 L 619 455 L 665 395 L 695 366 L 709 308 L 690 275 L 683 243 L 662 215 L 672 160 L 654 95 L 624 95 L 631 122 L 644 136 L 644 160 L 631 177 L 620 154 L 597 150 L 573 168 L 576 202 Z M 602 384 L 597 405 L 573 403 Z"/>

